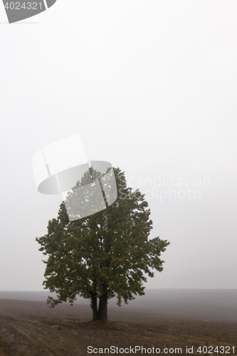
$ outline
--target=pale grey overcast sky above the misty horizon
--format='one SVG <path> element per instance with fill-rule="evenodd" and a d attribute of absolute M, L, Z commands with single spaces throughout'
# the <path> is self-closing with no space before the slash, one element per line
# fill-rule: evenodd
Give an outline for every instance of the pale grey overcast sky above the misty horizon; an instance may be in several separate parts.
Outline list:
<path fill-rule="evenodd" d="M 35 237 L 60 199 L 37 192 L 31 159 L 77 133 L 140 184 L 151 236 L 171 242 L 148 288 L 237 288 L 236 14 L 233 0 L 58 0 L 8 25 L 0 6 L 0 290 L 43 289 Z"/>

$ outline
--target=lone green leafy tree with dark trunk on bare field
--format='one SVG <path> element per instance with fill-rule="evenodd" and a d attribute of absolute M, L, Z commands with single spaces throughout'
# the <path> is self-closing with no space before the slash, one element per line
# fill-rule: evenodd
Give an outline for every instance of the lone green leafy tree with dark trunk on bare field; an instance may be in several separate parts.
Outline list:
<path fill-rule="evenodd" d="M 99 177 L 99 172 L 94 172 Z M 48 297 L 53 308 L 77 295 L 90 299 L 93 320 L 107 321 L 107 301 L 117 297 L 135 299 L 144 295 L 145 274 L 162 271 L 160 255 L 169 245 L 156 237 L 148 239 L 152 229 L 150 211 L 144 194 L 127 187 L 124 173 L 114 168 L 117 200 L 107 209 L 83 219 L 69 221 L 65 204 L 60 204 L 58 218 L 48 222 L 48 234 L 36 238 L 39 251 L 48 256 L 45 289 L 57 293 Z M 88 180 L 85 174 L 78 182 Z M 99 303 L 98 303 L 99 300 Z"/>

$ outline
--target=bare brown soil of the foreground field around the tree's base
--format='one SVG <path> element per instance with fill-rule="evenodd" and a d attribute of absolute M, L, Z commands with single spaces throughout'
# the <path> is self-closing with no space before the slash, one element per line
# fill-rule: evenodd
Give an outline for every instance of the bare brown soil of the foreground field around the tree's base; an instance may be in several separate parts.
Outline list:
<path fill-rule="evenodd" d="M 90 305 L 63 304 L 50 309 L 43 302 L 0 299 L 0 356 L 102 355 L 111 346 L 118 347 L 110 349 L 114 355 L 144 355 L 138 347 L 150 349 L 147 353 L 154 347 L 152 355 L 157 355 L 156 350 L 164 355 L 237 353 L 234 322 L 163 318 L 118 307 L 109 308 L 108 323 L 91 318 Z M 202 352 L 197 352 L 199 346 Z M 175 348 L 181 350 L 175 352 Z"/>

